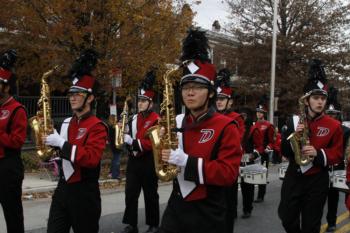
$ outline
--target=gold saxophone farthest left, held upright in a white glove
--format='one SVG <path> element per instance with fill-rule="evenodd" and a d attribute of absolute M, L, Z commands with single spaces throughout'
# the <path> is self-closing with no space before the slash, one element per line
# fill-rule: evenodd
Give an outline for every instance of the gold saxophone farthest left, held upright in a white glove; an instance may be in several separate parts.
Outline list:
<path fill-rule="evenodd" d="M 54 148 L 45 145 L 44 138 L 53 133 L 53 121 L 51 117 L 50 87 L 47 78 L 53 74 L 60 66 L 55 66 L 41 77 L 41 91 L 38 100 L 38 111 L 36 115 L 29 119 L 29 125 L 34 133 L 36 152 L 42 161 L 47 161 L 54 157 Z"/>

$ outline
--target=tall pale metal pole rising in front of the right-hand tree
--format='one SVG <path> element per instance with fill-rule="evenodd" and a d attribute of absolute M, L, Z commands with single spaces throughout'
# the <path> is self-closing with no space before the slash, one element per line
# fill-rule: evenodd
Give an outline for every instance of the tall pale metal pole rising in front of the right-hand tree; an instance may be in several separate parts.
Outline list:
<path fill-rule="evenodd" d="M 273 123 L 274 99 L 275 99 L 275 71 L 276 71 L 276 40 L 277 40 L 277 5 L 278 0 L 273 5 L 273 32 L 272 32 L 272 56 L 271 56 L 271 86 L 270 86 L 270 108 L 269 121 Z"/>

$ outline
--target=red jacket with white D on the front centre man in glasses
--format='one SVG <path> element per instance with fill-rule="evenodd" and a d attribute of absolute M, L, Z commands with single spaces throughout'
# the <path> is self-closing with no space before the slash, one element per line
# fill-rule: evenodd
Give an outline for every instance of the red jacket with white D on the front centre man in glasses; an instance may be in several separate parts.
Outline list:
<path fill-rule="evenodd" d="M 189 155 L 186 167 L 177 177 L 185 201 L 207 198 L 209 186 L 232 185 L 238 177 L 242 156 L 234 121 L 209 110 L 197 119 L 191 115 L 177 116 L 177 127 L 183 129 L 178 133 L 179 147 Z"/>

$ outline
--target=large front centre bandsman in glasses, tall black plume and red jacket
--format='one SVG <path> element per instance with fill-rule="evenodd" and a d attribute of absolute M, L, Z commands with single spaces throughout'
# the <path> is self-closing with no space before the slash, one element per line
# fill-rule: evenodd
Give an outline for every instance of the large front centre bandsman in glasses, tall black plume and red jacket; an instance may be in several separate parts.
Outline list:
<path fill-rule="evenodd" d="M 191 29 L 183 43 L 181 96 L 186 114 L 176 150 L 162 150 L 162 159 L 181 168 L 165 209 L 162 233 L 226 231 L 226 190 L 238 177 L 240 135 L 231 118 L 216 113 L 216 71 L 208 57 L 205 33 Z"/>

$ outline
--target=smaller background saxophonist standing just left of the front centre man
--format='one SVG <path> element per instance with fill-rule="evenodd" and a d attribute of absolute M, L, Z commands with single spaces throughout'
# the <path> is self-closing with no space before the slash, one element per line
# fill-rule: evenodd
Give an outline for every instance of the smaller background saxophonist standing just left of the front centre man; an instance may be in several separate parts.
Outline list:
<path fill-rule="evenodd" d="M 141 189 L 145 198 L 147 233 L 158 231 L 159 195 L 158 177 L 155 172 L 152 144 L 146 132 L 158 124 L 159 116 L 153 108 L 155 81 L 154 71 L 147 73 L 138 94 L 138 113 L 129 124 L 130 134 L 124 135 L 124 142 L 130 147 L 126 168 L 125 211 L 123 223 L 128 224 L 122 233 L 137 233 L 137 208 Z"/>

